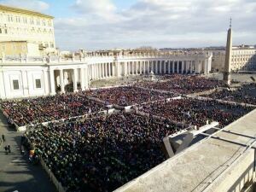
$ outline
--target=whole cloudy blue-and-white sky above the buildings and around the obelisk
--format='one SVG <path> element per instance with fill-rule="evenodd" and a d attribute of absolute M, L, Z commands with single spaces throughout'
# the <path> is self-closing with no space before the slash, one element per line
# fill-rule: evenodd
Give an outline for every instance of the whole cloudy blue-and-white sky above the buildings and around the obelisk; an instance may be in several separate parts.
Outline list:
<path fill-rule="evenodd" d="M 0 0 L 55 17 L 60 49 L 256 44 L 255 0 Z"/>

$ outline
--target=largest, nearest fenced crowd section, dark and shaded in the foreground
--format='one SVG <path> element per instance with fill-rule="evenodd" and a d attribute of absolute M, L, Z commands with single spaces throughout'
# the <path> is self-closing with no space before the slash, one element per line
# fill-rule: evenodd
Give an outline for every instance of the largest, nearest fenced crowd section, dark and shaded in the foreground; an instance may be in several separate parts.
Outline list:
<path fill-rule="evenodd" d="M 165 160 L 162 139 L 179 129 L 166 120 L 116 113 L 38 125 L 26 135 L 67 191 L 112 191 Z"/>

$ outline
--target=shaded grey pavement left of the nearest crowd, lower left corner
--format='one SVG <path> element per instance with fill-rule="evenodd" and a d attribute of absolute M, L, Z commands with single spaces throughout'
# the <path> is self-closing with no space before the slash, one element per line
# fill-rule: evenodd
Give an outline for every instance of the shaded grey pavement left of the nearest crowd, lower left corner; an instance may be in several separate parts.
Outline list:
<path fill-rule="evenodd" d="M 3 113 L 0 113 L 0 135 L 5 142 L 0 146 L 0 192 L 55 192 L 47 174 L 41 166 L 29 164 L 20 154 L 22 133 L 9 127 Z M 4 146 L 10 145 L 11 153 L 5 154 Z"/>

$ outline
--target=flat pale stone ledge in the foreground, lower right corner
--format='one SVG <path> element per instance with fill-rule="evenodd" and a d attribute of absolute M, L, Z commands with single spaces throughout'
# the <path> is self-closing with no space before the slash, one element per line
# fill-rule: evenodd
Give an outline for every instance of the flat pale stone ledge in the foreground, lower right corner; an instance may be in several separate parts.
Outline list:
<path fill-rule="evenodd" d="M 255 142 L 255 119 L 256 109 L 116 191 L 191 192 L 210 187 L 214 191 L 218 187 L 214 181 L 223 178 L 247 145 Z"/>

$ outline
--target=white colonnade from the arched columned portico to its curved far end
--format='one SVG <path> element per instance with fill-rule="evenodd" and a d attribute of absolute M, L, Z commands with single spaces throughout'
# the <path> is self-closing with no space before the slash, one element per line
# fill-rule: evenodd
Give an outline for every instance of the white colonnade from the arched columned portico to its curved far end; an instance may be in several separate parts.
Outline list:
<path fill-rule="evenodd" d="M 172 74 L 172 73 L 204 73 L 211 69 L 211 57 L 196 60 L 171 60 L 160 58 L 113 58 L 113 60 L 97 61 L 90 58 L 79 65 L 56 65 L 49 67 L 50 93 L 56 92 L 60 86 L 61 92 L 65 92 L 65 86 L 73 83 L 73 90 L 78 90 L 78 83 L 82 90 L 89 88 L 90 80 L 108 79 L 129 75 L 149 74 Z"/>

